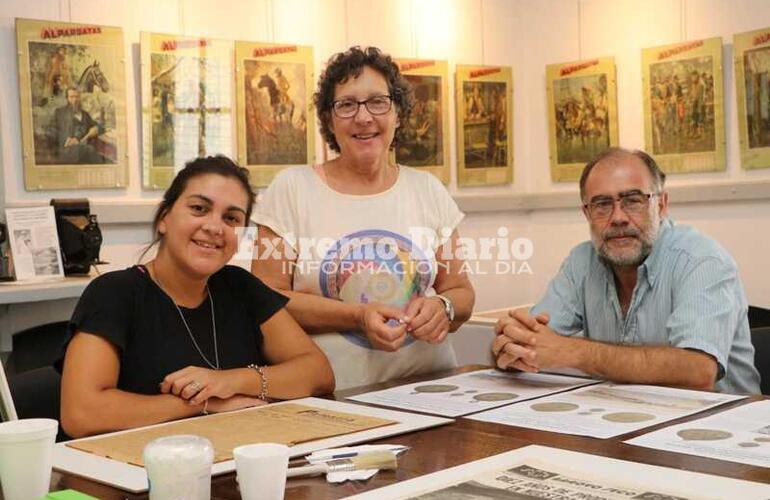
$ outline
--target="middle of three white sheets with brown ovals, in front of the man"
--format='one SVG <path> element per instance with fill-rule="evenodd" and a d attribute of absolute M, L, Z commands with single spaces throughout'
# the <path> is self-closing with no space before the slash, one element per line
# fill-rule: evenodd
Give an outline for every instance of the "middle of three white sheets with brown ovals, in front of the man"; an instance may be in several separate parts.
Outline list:
<path fill-rule="evenodd" d="M 606 382 L 537 401 L 496 408 L 468 418 L 563 434 L 610 438 L 744 397 Z"/>

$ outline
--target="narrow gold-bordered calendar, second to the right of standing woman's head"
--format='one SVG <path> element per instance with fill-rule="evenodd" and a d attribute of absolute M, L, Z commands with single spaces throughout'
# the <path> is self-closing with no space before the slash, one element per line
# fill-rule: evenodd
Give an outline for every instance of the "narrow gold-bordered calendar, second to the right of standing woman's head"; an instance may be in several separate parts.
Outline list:
<path fill-rule="evenodd" d="M 457 65 L 457 183 L 513 182 L 513 70 Z"/>

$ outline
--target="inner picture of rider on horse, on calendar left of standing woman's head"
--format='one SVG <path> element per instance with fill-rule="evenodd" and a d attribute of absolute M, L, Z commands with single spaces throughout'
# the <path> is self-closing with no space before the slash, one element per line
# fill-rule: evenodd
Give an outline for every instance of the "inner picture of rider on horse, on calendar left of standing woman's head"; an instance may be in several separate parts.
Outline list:
<path fill-rule="evenodd" d="M 304 64 L 243 61 L 249 165 L 308 163 L 305 81 Z"/>

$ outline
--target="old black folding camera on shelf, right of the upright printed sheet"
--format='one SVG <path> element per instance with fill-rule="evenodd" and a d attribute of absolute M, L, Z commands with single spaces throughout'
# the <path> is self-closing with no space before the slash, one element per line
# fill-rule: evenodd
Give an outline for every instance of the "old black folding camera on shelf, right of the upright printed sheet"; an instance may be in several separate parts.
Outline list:
<path fill-rule="evenodd" d="M 56 231 L 59 234 L 64 274 L 88 274 L 93 264 L 100 264 L 102 230 L 91 213 L 87 199 L 51 200 Z"/>

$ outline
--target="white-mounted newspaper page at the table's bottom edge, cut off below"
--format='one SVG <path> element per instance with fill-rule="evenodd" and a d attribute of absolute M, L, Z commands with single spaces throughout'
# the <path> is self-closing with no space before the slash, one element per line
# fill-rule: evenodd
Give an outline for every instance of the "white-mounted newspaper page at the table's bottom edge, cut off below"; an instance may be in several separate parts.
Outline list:
<path fill-rule="evenodd" d="M 349 498 L 759 500 L 770 498 L 770 485 L 525 446 Z"/>

